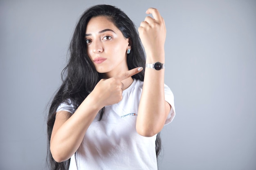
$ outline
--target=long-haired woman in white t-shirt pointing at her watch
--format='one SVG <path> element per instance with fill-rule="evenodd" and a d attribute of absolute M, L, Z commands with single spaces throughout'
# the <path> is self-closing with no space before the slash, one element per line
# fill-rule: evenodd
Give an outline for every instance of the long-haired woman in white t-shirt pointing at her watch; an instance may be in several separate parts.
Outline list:
<path fill-rule="evenodd" d="M 141 22 L 139 35 L 110 5 L 81 16 L 49 109 L 52 169 L 157 169 L 157 134 L 175 111 L 164 85 L 164 20 L 157 9 L 146 13 L 153 18 Z"/>

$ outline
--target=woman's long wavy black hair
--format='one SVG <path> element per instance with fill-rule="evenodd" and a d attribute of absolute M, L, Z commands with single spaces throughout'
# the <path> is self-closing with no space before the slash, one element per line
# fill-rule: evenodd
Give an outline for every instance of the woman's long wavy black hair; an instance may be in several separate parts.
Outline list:
<path fill-rule="evenodd" d="M 49 107 L 47 117 L 47 135 L 48 135 L 48 149 L 47 149 L 47 164 L 51 170 L 66 170 L 69 167 L 70 159 L 61 163 L 56 162 L 49 150 L 50 138 L 52 135 L 52 128 L 55 121 L 56 110 L 62 102 L 75 102 L 76 108 L 83 102 L 83 100 L 90 94 L 102 74 L 98 73 L 94 64 L 90 60 L 85 43 L 85 31 L 89 20 L 96 16 L 108 16 L 115 26 L 122 32 L 125 38 L 130 38 L 131 51 L 127 54 L 127 64 L 129 70 L 136 67 L 145 68 L 145 54 L 135 24 L 128 18 L 128 16 L 111 5 L 95 5 L 87 9 L 76 24 L 73 37 L 69 47 L 69 61 L 67 66 L 61 73 L 62 85 L 59 87 L 56 95 L 52 99 Z M 144 81 L 144 70 L 133 75 L 132 78 Z M 69 100 L 70 99 L 70 100 Z M 72 103 L 74 104 L 74 103 Z M 104 108 L 99 112 L 102 118 Z M 156 155 L 159 155 L 161 149 L 161 139 L 159 134 L 156 139 Z"/>

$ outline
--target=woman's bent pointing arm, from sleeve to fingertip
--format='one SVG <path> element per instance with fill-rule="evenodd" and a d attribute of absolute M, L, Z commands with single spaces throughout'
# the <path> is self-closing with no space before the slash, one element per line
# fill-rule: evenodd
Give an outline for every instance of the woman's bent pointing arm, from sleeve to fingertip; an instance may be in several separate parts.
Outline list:
<path fill-rule="evenodd" d="M 50 141 L 50 150 L 55 161 L 65 161 L 76 152 L 99 110 L 121 101 L 124 86 L 121 81 L 140 71 L 141 69 L 134 68 L 117 77 L 101 79 L 73 115 L 67 111 L 56 113 Z"/>

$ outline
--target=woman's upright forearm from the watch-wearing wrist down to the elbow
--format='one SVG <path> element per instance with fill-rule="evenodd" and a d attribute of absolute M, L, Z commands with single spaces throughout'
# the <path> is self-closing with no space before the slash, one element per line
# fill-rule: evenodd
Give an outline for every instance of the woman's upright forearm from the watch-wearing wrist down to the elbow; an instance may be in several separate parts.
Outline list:
<path fill-rule="evenodd" d="M 151 55 L 147 55 L 146 63 L 164 63 L 164 56 L 159 58 L 161 61 L 155 61 Z M 153 68 L 145 68 L 136 123 L 137 132 L 143 136 L 153 136 L 162 130 L 165 119 L 164 69 L 157 71 Z"/>

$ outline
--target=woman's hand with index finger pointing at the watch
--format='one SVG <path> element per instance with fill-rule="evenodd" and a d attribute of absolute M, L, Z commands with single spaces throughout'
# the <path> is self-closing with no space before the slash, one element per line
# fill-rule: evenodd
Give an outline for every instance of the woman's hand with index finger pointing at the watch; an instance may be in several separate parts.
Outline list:
<path fill-rule="evenodd" d="M 116 104 L 122 99 L 122 88 L 124 86 L 122 81 L 139 73 L 141 70 L 142 67 L 133 68 L 116 77 L 101 79 L 90 95 L 96 97 L 96 101 L 101 108 L 107 105 Z"/>

